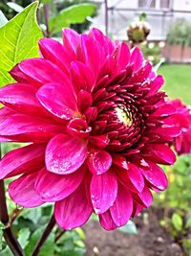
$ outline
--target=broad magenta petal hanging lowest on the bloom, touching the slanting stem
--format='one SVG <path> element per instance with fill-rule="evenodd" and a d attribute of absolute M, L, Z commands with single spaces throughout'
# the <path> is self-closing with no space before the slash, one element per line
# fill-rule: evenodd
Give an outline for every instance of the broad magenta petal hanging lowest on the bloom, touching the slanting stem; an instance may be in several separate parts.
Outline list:
<path fill-rule="evenodd" d="M 66 230 L 81 226 L 90 218 L 93 207 L 81 184 L 72 195 L 55 203 L 54 215 L 58 225 Z"/>

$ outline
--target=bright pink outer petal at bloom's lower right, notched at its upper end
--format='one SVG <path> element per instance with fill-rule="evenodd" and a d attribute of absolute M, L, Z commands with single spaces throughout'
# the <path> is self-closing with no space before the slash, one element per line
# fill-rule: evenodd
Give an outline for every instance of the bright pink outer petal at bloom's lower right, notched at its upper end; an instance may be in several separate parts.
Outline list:
<path fill-rule="evenodd" d="M 168 180 L 163 170 L 155 163 L 148 163 L 150 165 L 150 169 L 141 169 L 142 175 L 144 175 L 146 180 L 154 187 L 158 188 L 159 190 L 165 190 L 168 186 Z"/>

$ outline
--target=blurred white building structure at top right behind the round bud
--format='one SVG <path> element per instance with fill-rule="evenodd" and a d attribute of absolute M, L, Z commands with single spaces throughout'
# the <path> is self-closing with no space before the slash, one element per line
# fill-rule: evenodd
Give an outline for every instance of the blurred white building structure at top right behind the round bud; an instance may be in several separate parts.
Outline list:
<path fill-rule="evenodd" d="M 98 16 L 93 20 L 93 26 L 105 31 L 104 0 L 94 0 L 100 3 Z M 149 38 L 165 39 L 168 26 L 176 18 L 186 18 L 191 21 L 191 0 L 108 0 L 108 32 L 117 39 L 127 39 L 126 28 L 133 20 L 138 20 L 141 12 L 147 13 L 147 21 L 152 30 Z"/>

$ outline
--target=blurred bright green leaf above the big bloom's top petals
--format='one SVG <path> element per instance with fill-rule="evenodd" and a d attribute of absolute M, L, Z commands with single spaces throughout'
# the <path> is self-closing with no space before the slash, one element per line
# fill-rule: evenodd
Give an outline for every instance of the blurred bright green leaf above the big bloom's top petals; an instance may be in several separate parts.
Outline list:
<path fill-rule="evenodd" d="M 70 27 L 71 24 L 80 24 L 96 12 L 94 4 L 79 4 L 66 8 L 56 16 L 50 18 L 49 26 L 51 33 L 61 31 L 63 28 Z"/>

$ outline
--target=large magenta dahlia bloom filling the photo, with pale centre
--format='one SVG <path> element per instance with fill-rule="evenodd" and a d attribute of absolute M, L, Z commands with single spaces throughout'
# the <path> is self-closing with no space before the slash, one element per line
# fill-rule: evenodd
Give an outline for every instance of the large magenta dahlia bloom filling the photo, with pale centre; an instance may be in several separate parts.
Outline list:
<path fill-rule="evenodd" d="M 115 229 L 152 203 L 150 190 L 167 187 L 158 164 L 173 164 L 169 143 L 180 128 L 169 125 L 174 107 L 163 83 L 138 48 L 113 42 L 93 29 L 63 32 L 63 44 L 39 41 L 40 58 L 11 70 L 16 81 L 0 89 L 1 141 L 30 145 L 10 151 L 0 178 L 24 207 L 54 203 L 64 229 L 92 213 Z"/>

